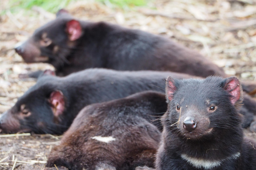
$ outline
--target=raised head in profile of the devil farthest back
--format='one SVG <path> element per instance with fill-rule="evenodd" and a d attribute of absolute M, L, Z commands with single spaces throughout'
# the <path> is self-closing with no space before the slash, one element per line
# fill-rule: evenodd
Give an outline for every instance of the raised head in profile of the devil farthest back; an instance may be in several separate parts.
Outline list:
<path fill-rule="evenodd" d="M 66 57 L 82 36 L 78 20 L 60 10 L 57 18 L 35 30 L 25 42 L 18 43 L 15 51 L 27 63 L 45 62 L 54 66 L 68 63 Z"/>

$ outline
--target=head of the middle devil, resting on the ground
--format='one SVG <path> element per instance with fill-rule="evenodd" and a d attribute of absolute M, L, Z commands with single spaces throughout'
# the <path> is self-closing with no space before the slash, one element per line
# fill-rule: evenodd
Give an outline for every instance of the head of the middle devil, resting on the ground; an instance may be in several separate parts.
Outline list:
<path fill-rule="evenodd" d="M 67 129 L 61 125 L 67 103 L 65 96 L 45 78 L 38 81 L 45 81 L 45 84 L 38 86 L 37 82 L 0 116 L 0 131 L 61 134 Z"/>

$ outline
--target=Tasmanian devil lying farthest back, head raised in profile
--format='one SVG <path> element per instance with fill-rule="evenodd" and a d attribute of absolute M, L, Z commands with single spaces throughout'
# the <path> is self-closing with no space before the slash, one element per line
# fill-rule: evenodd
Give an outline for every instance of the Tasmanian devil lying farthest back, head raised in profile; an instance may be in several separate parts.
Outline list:
<path fill-rule="evenodd" d="M 52 64 L 60 76 L 91 67 L 226 76 L 207 58 L 163 36 L 107 22 L 77 20 L 65 10 L 15 50 L 25 62 Z"/>

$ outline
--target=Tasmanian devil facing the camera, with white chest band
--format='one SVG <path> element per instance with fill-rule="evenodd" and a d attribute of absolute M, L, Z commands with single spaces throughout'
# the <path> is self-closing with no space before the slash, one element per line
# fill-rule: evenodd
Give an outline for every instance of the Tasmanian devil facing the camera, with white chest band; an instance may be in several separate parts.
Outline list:
<path fill-rule="evenodd" d="M 256 168 L 256 144 L 243 139 L 236 77 L 166 81 L 167 112 L 157 170 Z"/>

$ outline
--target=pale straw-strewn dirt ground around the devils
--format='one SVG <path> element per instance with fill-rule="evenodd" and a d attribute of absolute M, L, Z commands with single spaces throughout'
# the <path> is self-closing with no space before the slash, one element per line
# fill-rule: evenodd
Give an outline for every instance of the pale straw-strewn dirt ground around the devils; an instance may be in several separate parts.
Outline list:
<path fill-rule="evenodd" d="M 0 11 L 8 9 L 1 0 Z M 77 1 L 67 8 L 79 19 L 108 21 L 124 27 L 161 34 L 197 50 L 227 74 L 243 80 L 256 78 L 256 1 L 250 0 L 156 0 L 147 7 L 121 10 L 110 4 Z M 40 25 L 55 14 L 39 7 L 0 16 L 0 114 L 9 109 L 35 80 L 18 75 L 47 64 L 26 64 L 13 48 L 26 40 Z M 245 130 L 256 139 L 256 134 Z M 44 169 L 47 155 L 61 137 L 45 134 L 0 135 L 0 169 Z"/>

